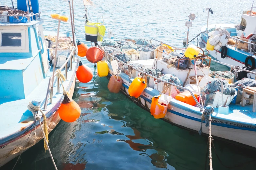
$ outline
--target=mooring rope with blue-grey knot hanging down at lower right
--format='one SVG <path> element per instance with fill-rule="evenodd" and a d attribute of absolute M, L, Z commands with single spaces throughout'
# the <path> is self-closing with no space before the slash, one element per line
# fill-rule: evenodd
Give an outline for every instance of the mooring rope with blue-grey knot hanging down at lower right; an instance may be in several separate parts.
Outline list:
<path fill-rule="evenodd" d="M 199 135 L 202 134 L 202 125 L 203 121 L 205 120 L 205 126 L 209 126 L 209 160 L 210 160 L 210 170 L 213 170 L 213 164 L 212 164 L 212 141 L 213 141 L 213 136 L 212 136 L 212 119 L 211 119 L 211 114 L 213 113 L 214 109 L 213 106 L 206 106 L 202 113 L 202 118 L 201 118 L 201 127 L 200 130 L 198 131 Z M 207 118 L 206 115 L 209 115 L 209 119 Z"/>

